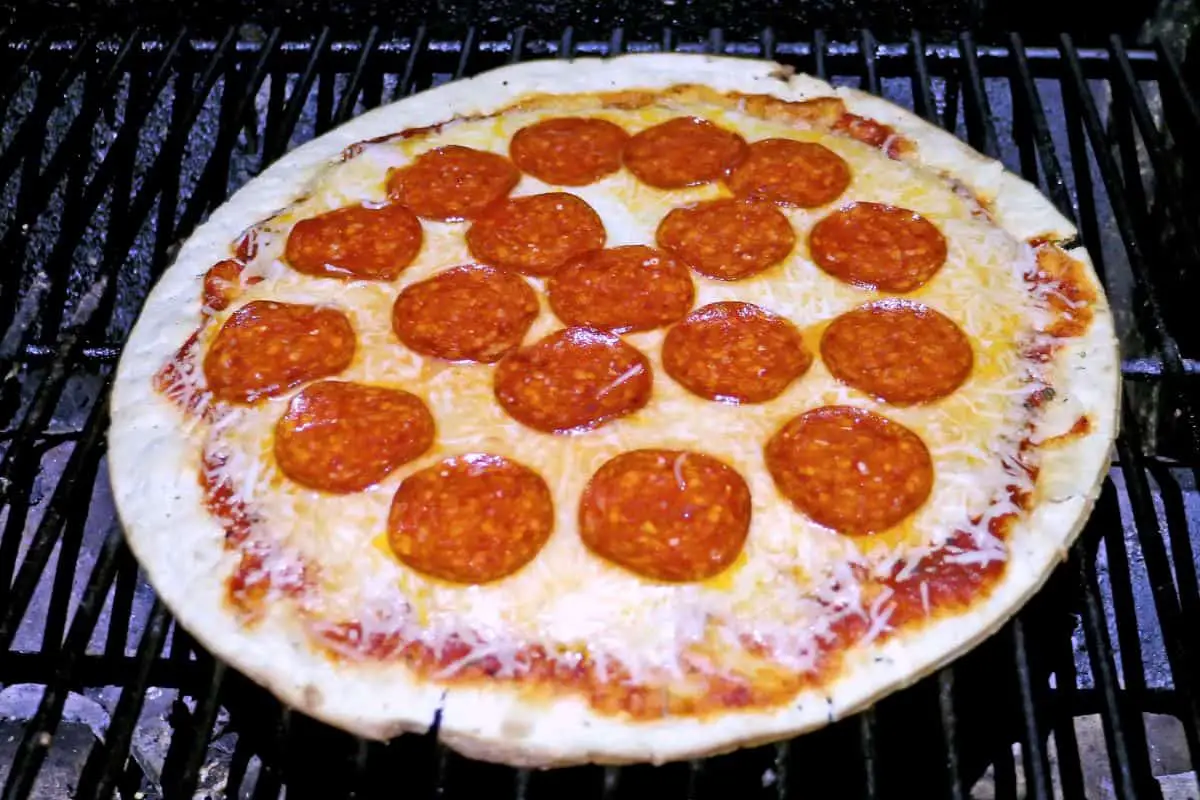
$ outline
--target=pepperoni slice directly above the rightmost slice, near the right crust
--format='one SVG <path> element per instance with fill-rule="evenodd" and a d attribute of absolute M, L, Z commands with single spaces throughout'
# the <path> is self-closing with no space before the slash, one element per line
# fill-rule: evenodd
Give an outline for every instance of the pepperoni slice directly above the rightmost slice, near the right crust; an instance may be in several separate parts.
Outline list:
<path fill-rule="evenodd" d="M 946 237 L 916 211 L 853 203 L 812 225 L 809 253 L 839 281 L 904 294 L 942 269 Z"/>

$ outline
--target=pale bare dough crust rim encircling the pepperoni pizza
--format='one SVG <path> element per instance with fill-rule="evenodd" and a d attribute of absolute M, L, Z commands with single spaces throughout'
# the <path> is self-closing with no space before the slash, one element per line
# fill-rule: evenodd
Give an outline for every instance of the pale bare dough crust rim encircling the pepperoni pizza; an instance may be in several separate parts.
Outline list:
<path fill-rule="evenodd" d="M 952 134 L 887 101 L 834 90 L 767 61 L 644 54 L 521 64 L 364 114 L 288 154 L 197 229 L 151 291 L 118 368 L 109 461 L 126 539 L 163 602 L 216 657 L 298 710 L 367 738 L 427 730 L 440 711 L 442 741 L 474 758 L 527 766 L 661 763 L 778 740 L 870 705 L 996 632 L 1066 558 L 1108 473 L 1120 404 L 1112 317 L 1081 248 L 1070 254 L 1087 265 L 1097 289 L 1094 320 L 1084 336 L 1068 339 L 1058 351 L 1052 378 L 1057 396 L 1042 426 L 1066 431 L 1087 414 L 1091 432 L 1044 451 L 1034 507 L 1009 535 L 1009 567 L 990 596 L 970 612 L 852 649 L 835 681 L 802 692 L 786 706 L 629 722 L 600 715 L 577 698 L 532 699 L 504 684 L 442 687 L 395 664 L 336 662 L 270 614 L 253 630 L 242 627 L 226 603 L 224 581 L 235 557 L 224 551 L 221 524 L 204 510 L 194 451 L 179 435 L 180 413 L 151 385 L 154 373 L 196 326 L 205 270 L 250 223 L 292 203 L 319 169 L 355 142 L 452 115 L 491 113 L 529 94 L 684 83 L 784 100 L 840 96 L 850 112 L 886 122 L 916 142 L 923 163 L 959 179 L 1015 237 L 1075 237 L 1075 229 L 1037 187 Z"/>

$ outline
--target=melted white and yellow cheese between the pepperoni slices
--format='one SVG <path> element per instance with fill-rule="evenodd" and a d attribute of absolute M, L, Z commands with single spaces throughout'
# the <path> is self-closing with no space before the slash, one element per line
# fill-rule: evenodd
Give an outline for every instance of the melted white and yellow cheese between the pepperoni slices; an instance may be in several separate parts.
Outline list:
<path fill-rule="evenodd" d="M 1031 391 L 1019 342 L 1028 332 L 1030 320 L 1036 323 L 1045 314 L 1044 300 L 1032 296 L 1022 281 L 1033 264 L 1030 249 L 988 221 L 972 217 L 967 201 L 942 180 L 863 144 L 786 128 L 733 110 L 688 112 L 732 126 L 750 140 L 768 136 L 818 140 L 839 152 L 853 170 L 853 182 L 839 205 L 850 200 L 890 203 L 935 222 L 949 242 L 947 263 L 910 296 L 954 319 L 970 337 L 976 362 L 967 383 L 930 405 L 881 408 L 835 381 L 817 359 L 779 398 L 730 407 L 697 398 L 672 381 L 660 359 L 664 331 L 650 331 L 626 337 L 653 365 L 654 396 L 647 408 L 582 435 L 536 433 L 500 410 L 492 395 L 492 367 L 427 361 L 402 347 L 391 332 L 391 305 L 400 289 L 472 260 L 463 241 L 466 224 L 422 222 L 426 239 L 421 253 L 394 284 L 302 276 L 280 259 L 287 231 L 296 219 L 341 205 L 383 200 L 389 168 L 445 144 L 504 152 L 515 131 L 550 114 L 464 121 L 428 138 L 368 145 L 359 157 L 318 176 L 306 199 L 263 227 L 258 255 L 247 275 L 264 282 L 248 287 L 242 302 L 269 297 L 346 311 L 359 348 L 340 378 L 402 387 L 422 397 L 437 420 L 434 446 L 378 486 L 336 497 L 304 489 L 275 467 L 272 428 L 287 396 L 230 411 L 208 431 L 209 446 L 227 456 L 222 475 L 253 506 L 268 534 L 319 566 L 319 591 L 310 600 L 317 607 L 308 610 L 335 621 L 358 619 L 365 633 L 401 631 L 434 649 L 451 638 L 466 640 L 468 654 L 446 667 L 448 674 L 487 656 L 499 661 L 502 672 L 518 670 L 518 648 L 539 643 L 580 657 L 586 654 L 600 669 L 616 658 L 632 679 L 641 680 L 674 674 L 684 654 L 694 654 L 714 634 L 727 643 L 748 637 L 784 666 L 806 670 L 815 664 L 820 639 L 830 634 L 839 618 L 865 619 L 866 640 L 888 628 L 894 609 L 890 589 L 864 599 L 852 564 L 880 577 L 892 575 L 901 563 L 902 570 L 911 572 L 914 555 L 956 530 L 967 530 L 980 547 L 979 552 L 964 553 L 962 560 L 1006 557 L 1002 543 L 988 533 L 988 522 L 1015 511 L 1004 489 L 1014 476 L 1004 463 L 1015 461 L 1018 434 L 1028 416 L 1024 401 Z M 678 113 L 650 108 L 600 115 L 637 131 Z M 515 193 L 548 188 L 526 176 Z M 722 193 L 714 185 L 658 191 L 640 185 L 626 172 L 571 191 L 601 215 L 610 246 L 653 245 L 659 221 L 672 207 Z M 827 276 L 809 260 L 806 234 L 826 212 L 787 210 L 798 245 L 785 263 L 762 275 L 734 283 L 694 276 L 696 307 L 719 300 L 754 302 L 792 320 L 815 347 L 816 332 L 833 317 L 877 296 Z M 542 288 L 541 281 L 530 283 Z M 560 327 L 544 296 L 540 302 L 542 311 L 527 342 Z M 228 313 L 216 318 L 209 337 Z M 875 408 L 916 431 L 929 446 L 936 470 L 932 495 L 898 531 L 864 539 L 838 535 L 794 511 L 768 475 L 764 441 L 792 416 L 830 403 Z M 198 432 L 198 446 L 199 437 Z M 576 511 L 584 485 L 604 462 L 638 447 L 700 450 L 745 477 L 754 498 L 750 535 L 743 557 L 724 575 L 700 584 L 654 583 L 583 547 Z M 532 564 L 493 584 L 460 587 L 409 570 L 377 545 L 385 531 L 391 497 L 407 475 L 446 456 L 479 451 L 514 458 L 541 474 L 551 487 L 556 531 Z M 928 602 L 926 594 L 923 599 Z"/>

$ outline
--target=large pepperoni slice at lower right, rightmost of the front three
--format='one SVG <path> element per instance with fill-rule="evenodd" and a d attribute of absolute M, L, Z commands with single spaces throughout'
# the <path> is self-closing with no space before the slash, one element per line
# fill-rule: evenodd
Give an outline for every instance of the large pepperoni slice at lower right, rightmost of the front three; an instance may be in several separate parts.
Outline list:
<path fill-rule="evenodd" d="M 895 525 L 934 487 L 934 463 L 920 437 L 848 405 L 792 419 L 767 443 L 766 457 L 784 497 L 814 522 L 844 534 Z"/>

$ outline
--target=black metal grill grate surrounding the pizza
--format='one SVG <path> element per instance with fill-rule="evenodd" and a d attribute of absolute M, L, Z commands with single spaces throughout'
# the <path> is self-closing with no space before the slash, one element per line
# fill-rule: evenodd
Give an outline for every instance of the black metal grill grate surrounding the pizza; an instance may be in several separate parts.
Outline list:
<path fill-rule="evenodd" d="M 11 798 L 1195 798 L 1200 104 L 1120 37 L 782 29 L 0 35 L 0 782 Z M 289 148 L 534 58 L 772 58 L 913 108 L 1078 219 L 1116 312 L 1123 433 L 1080 541 L 972 654 L 790 742 L 510 770 L 437 730 L 365 742 L 215 662 L 155 599 L 107 487 L 107 389 L 178 242 Z M 1190 151 L 1190 152 L 1189 152 Z"/>

